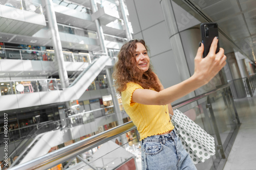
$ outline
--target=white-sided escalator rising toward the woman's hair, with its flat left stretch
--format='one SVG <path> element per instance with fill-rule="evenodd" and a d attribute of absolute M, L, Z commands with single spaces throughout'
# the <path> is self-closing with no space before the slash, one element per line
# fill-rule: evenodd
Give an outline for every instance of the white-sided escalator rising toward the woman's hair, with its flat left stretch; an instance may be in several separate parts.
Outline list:
<path fill-rule="evenodd" d="M 0 111 L 78 100 L 99 75 L 101 70 L 103 70 L 105 66 L 113 66 L 114 63 L 115 61 L 108 56 L 101 56 L 95 59 L 79 74 L 74 82 L 65 89 L 3 95 L 0 98 L 2 105 Z"/>

